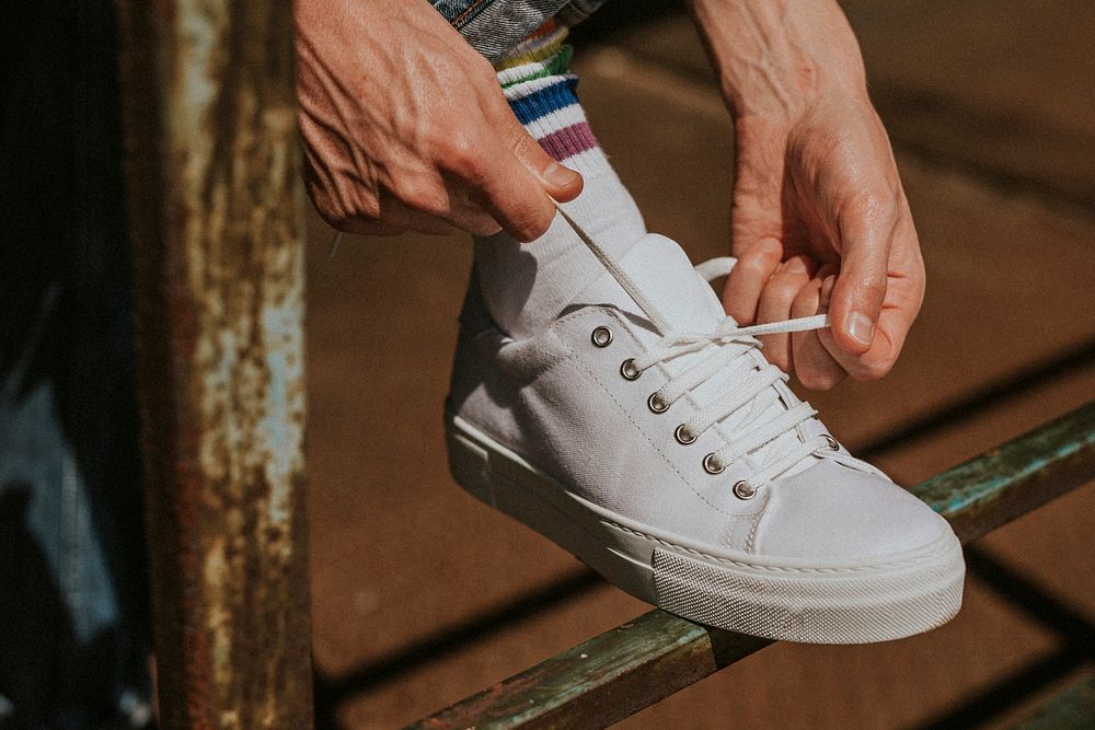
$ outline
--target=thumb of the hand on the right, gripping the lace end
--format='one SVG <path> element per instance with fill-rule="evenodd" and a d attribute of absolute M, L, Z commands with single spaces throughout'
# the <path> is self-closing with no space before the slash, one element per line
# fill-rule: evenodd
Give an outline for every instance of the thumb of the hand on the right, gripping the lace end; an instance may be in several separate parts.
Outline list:
<path fill-rule="evenodd" d="M 874 341 L 886 300 L 894 225 L 864 217 L 840 230 L 840 275 L 829 308 L 832 335 L 841 349 L 863 355 Z"/>

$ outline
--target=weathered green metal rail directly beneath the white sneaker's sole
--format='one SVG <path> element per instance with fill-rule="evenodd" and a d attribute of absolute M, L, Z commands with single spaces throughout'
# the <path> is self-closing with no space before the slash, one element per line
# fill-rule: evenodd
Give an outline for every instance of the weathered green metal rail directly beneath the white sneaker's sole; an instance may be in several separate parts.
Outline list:
<path fill-rule="evenodd" d="M 912 488 L 969 543 L 1095 479 L 1095 402 Z M 652 611 L 413 728 L 596 728 L 771 644 Z"/>

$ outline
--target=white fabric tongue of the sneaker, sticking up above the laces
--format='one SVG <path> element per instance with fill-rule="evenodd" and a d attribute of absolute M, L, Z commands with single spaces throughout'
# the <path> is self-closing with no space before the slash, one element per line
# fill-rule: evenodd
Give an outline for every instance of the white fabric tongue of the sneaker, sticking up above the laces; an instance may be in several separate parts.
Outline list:
<path fill-rule="evenodd" d="M 714 290 L 695 269 L 677 243 L 657 233 L 647 233 L 620 259 L 620 266 L 643 296 L 677 332 L 710 333 L 725 318 Z M 648 321 L 642 308 L 624 291 L 608 270 L 593 280 L 576 304 L 614 304 L 622 311 Z M 653 324 L 648 325 L 653 331 Z M 661 333 L 665 334 L 665 333 Z M 639 337 L 655 333 L 643 329 Z"/>

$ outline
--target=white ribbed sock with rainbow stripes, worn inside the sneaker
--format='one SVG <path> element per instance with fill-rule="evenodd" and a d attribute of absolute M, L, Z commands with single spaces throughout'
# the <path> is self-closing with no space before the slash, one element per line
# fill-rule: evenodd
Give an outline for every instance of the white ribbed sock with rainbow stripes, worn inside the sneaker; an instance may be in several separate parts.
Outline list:
<path fill-rule="evenodd" d="M 514 114 L 548 154 L 581 173 L 581 195 L 565 208 L 619 258 L 646 225 L 578 104 L 566 34 L 554 21 L 542 25 L 498 62 L 498 82 Z M 531 243 L 505 233 L 477 237 L 475 268 L 487 309 L 514 337 L 541 332 L 601 273 L 560 217 Z"/>

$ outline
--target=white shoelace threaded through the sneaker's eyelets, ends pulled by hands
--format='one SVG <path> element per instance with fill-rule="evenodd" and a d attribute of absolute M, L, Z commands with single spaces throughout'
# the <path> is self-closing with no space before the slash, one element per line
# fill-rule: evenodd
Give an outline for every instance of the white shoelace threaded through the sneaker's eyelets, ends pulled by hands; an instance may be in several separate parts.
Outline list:
<path fill-rule="evenodd" d="M 621 372 L 625 378 L 635 380 L 654 366 L 672 360 L 683 355 L 706 351 L 702 358 L 672 375 L 666 383 L 650 395 L 652 410 L 667 410 L 684 394 L 705 383 L 716 373 L 727 373 L 725 385 L 701 406 L 691 418 L 677 427 L 677 440 L 682 444 L 695 441 L 701 433 L 716 426 L 739 409 L 749 407 L 750 414 L 746 421 L 751 424 L 734 439 L 727 439 L 726 445 L 707 454 L 703 460 L 704 468 L 711 474 L 722 473 L 726 466 L 765 447 L 780 437 L 798 431 L 798 426 L 817 412 L 808 403 L 799 403 L 786 408 L 780 415 L 766 420 L 757 420 L 753 414 L 763 412 L 771 402 L 760 396 L 774 386 L 777 381 L 787 381 L 787 374 L 772 364 L 759 366 L 754 358 L 747 357 L 751 350 L 761 346 L 757 339 L 760 335 L 777 333 L 807 332 L 829 326 L 829 315 L 818 314 L 770 324 L 739 327 L 731 318 L 726 317 L 712 333 L 680 333 L 658 309 L 643 294 L 642 289 L 632 280 L 627 273 L 607 251 L 601 248 L 557 202 L 555 208 L 589 251 L 604 266 L 612 277 L 630 296 L 650 324 L 660 335 L 657 344 L 643 356 L 630 359 L 623 363 Z M 713 258 L 695 267 L 696 271 L 711 281 L 725 276 L 734 267 L 735 260 L 728 257 Z M 781 398 L 782 402 L 782 398 Z M 759 414 L 758 414 L 759 415 Z M 785 440 L 788 444 L 791 439 Z M 734 494 L 748 499 L 757 494 L 757 489 L 768 482 L 779 477 L 798 462 L 811 454 L 826 451 L 833 452 L 839 447 L 828 434 L 804 438 L 796 433 L 796 445 L 786 445 L 749 478 L 734 485 Z"/>

